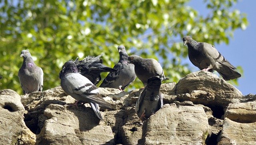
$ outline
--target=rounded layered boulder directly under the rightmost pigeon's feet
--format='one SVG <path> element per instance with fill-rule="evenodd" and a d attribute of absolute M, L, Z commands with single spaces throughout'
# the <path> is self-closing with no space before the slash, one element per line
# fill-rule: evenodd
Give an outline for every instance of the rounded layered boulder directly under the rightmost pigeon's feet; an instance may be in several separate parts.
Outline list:
<path fill-rule="evenodd" d="M 186 93 L 190 96 L 182 96 Z M 177 83 L 176 95 L 181 95 L 179 99 L 182 101 L 188 100 L 208 107 L 218 105 L 222 108 L 229 103 L 240 103 L 240 98 L 243 97 L 233 85 L 206 71 L 189 73 L 180 79 Z"/>

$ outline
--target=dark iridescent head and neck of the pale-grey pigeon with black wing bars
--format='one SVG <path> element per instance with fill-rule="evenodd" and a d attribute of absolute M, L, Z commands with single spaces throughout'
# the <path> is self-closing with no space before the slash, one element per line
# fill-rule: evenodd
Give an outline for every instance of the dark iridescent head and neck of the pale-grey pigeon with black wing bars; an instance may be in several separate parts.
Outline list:
<path fill-rule="evenodd" d="M 60 71 L 59 78 L 61 79 L 67 73 L 78 73 L 78 69 L 76 64 L 73 61 L 67 61 L 63 66 L 62 70 Z"/>

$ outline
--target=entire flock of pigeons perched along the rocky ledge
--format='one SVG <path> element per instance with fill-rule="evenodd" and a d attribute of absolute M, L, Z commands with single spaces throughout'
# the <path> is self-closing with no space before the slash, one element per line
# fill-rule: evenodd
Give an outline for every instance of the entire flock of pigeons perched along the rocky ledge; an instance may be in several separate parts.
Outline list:
<path fill-rule="evenodd" d="M 188 46 L 188 57 L 192 64 L 200 70 L 213 72 L 216 70 L 225 80 L 240 77 L 236 68 L 232 66 L 211 44 L 196 42 L 190 36 L 183 38 Z M 100 87 L 112 87 L 124 90 L 136 77 L 144 84 L 144 89 L 136 102 L 136 113 L 143 121 L 162 108 L 163 100 L 160 93 L 161 81 L 168 79 L 160 64 L 152 58 L 128 56 L 124 46 L 118 46 L 120 59 L 114 68 L 102 64 L 101 56 L 87 56 L 84 60 L 69 60 L 60 71 L 60 84 L 68 95 L 82 103 L 90 103 L 99 119 L 102 116 L 99 107 L 111 109 L 99 94 L 96 85 L 100 82 L 101 72 L 109 72 Z M 34 64 L 30 52 L 22 50 L 23 64 L 18 72 L 20 85 L 24 94 L 42 91 L 43 70 Z M 1 76 L 0 76 L 1 78 Z"/>

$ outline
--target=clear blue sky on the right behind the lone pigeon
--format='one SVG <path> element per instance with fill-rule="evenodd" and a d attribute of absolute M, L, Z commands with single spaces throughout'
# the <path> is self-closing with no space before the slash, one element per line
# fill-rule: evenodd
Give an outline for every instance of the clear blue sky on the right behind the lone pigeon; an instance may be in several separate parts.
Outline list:
<path fill-rule="evenodd" d="M 189 6 L 197 10 L 200 15 L 207 11 L 203 0 L 191 0 Z M 256 48 L 254 33 L 256 32 L 256 0 L 238 0 L 233 6 L 241 13 L 247 14 L 249 25 L 246 30 L 238 29 L 228 45 L 213 44 L 217 50 L 233 65 L 242 66 L 244 74 L 238 79 L 238 86 L 243 95 L 256 94 Z M 209 34 L 210 35 L 210 34 Z M 255 64 L 254 64 L 255 63 Z M 191 64 L 191 63 L 190 63 Z M 193 66 L 193 65 L 192 65 Z"/>

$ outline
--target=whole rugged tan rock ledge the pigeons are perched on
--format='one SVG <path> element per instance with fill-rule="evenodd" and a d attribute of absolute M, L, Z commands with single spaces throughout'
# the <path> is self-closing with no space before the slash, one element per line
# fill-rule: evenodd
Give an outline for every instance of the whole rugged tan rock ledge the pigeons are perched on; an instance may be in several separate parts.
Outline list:
<path fill-rule="evenodd" d="M 0 91 L 0 142 L 4 144 L 256 144 L 256 95 L 242 93 L 210 72 L 163 83 L 164 107 L 143 124 L 135 113 L 141 89 L 130 92 L 100 88 L 113 110 L 100 110 L 60 86 L 28 95 Z"/>

